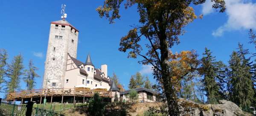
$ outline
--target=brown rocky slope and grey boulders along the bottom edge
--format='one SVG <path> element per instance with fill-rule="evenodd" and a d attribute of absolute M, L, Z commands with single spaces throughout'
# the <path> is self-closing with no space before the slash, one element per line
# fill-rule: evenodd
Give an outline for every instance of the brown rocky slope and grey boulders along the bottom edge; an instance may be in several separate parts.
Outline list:
<path fill-rule="evenodd" d="M 219 104 L 197 104 L 180 99 L 179 104 L 182 106 L 182 116 L 253 116 L 227 100 L 220 100 Z M 159 108 L 161 105 L 163 103 L 112 103 L 107 105 L 105 116 L 137 116 L 149 107 Z M 69 109 L 65 111 L 65 116 L 87 116 L 86 110 L 86 107 Z"/>

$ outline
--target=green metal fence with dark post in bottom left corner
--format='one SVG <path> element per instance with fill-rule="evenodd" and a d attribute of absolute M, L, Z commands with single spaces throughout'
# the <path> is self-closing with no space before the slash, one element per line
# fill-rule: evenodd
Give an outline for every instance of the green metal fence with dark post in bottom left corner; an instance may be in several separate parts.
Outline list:
<path fill-rule="evenodd" d="M 49 110 L 33 107 L 34 102 L 28 102 L 26 105 L 17 105 L 1 102 L 0 99 L 0 116 L 64 116 Z"/>

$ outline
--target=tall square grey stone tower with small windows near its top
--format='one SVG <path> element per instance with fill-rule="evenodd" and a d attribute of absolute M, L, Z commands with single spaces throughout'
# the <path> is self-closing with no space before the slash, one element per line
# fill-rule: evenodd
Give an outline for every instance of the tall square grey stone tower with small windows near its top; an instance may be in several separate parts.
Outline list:
<path fill-rule="evenodd" d="M 65 14 L 67 16 L 67 14 Z M 43 88 L 63 88 L 67 54 L 76 58 L 79 31 L 62 17 L 51 22 Z"/>

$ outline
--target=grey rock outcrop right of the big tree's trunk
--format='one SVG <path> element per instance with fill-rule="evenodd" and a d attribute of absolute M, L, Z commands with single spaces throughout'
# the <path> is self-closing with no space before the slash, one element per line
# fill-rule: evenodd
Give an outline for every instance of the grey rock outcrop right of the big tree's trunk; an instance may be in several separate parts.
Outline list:
<path fill-rule="evenodd" d="M 253 116 L 227 100 L 220 100 L 219 104 L 198 104 L 180 99 L 179 104 L 180 111 L 183 111 L 182 116 Z"/>

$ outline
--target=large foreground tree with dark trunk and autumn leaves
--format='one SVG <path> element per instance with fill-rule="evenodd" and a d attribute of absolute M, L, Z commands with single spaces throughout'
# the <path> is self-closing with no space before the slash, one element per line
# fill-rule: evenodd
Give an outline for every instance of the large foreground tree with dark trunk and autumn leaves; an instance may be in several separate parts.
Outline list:
<path fill-rule="evenodd" d="M 110 23 L 119 19 L 119 9 L 125 0 L 105 0 L 103 6 L 99 6 L 100 17 L 108 18 Z M 192 4 L 198 5 L 206 0 L 126 0 L 125 9 L 137 6 L 140 15 L 139 24 L 133 27 L 126 36 L 121 38 L 119 51 L 128 52 L 128 58 L 141 56 L 144 59 L 139 61 L 142 64 L 151 64 L 154 69 L 154 76 L 163 85 L 169 107 L 169 115 L 179 115 L 177 104 L 176 83 L 180 78 L 173 75 L 170 49 L 174 44 L 179 44 L 179 36 L 184 33 L 183 27 L 192 22 L 197 16 Z M 224 0 L 211 0 L 212 7 L 225 11 Z M 148 41 L 144 47 L 140 44 L 142 40 Z M 147 51 L 142 52 L 143 48 Z"/>

